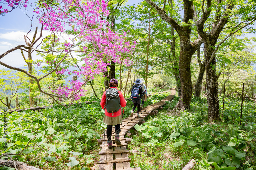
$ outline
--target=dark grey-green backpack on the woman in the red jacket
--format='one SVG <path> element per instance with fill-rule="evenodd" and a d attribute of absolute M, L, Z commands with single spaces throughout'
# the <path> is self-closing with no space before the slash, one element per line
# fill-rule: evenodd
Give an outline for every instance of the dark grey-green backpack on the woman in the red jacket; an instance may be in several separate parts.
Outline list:
<path fill-rule="evenodd" d="M 115 88 L 108 88 L 106 90 L 106 105 L 105 108 L 107 112 L 112 113 L 119 111 L 120 107 L 120 97 L 118 90 Z"/>

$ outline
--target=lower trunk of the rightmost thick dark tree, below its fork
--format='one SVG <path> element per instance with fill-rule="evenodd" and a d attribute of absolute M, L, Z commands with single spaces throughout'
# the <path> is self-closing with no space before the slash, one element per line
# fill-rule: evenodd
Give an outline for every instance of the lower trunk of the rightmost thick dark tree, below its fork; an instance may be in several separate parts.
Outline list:
<path fill-rule="evenodd" d="M 218 97 L 218 80 L 216 74 L 216 58 L 214 56 L 212 62 L 209 63 L 209 59 L 214 51 L 212 47 L 215 47 L 215 42 L 204 42 L 204 56 L 205 56 L 205 71 L 206 71 L 206 83 L 207 83 L 207 104 L 208 104 L 208 120 L 220 121 L 220 106 Z M 214 69 L 212 69 L 214 68 Z"/>

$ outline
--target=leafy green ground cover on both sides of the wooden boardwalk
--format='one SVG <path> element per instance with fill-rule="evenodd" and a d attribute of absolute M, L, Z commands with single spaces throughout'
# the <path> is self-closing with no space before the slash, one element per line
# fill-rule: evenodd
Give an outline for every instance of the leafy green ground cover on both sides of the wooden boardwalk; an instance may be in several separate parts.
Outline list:
<path fill-rule="evenodd" d="M 158 102 L 167 94 L 153 95 L 145 104 Z M 11 157 L 42 169 L 98 169 L 97 139 L 104 131 L 103 110 L 99 100 L 82 99 L 96 102 L 8 114 L 8 152 L 20 153 Z M 131 166 L 142 170 L 182 169 L 194 158 L 195 169 L 255 169 L 255 130 L 243 118 L 238 124 L 239 101 L 226 100 L 223 121 L 215 123 L 207 121 L 203 98 L 193 99 L 191 110 L 170 112 L 177 101 L 174 97 L 157 115 L 148 116 L 146 123 L 132 130 L 129 149 L 140 154 L 129 153 Z M 130 114 L 131 104 L 128 101 L 124 117 Z M 228 111 L 230 108 L 233 110 Z M 3 123 L 0 132 L 2 154 Z"/>

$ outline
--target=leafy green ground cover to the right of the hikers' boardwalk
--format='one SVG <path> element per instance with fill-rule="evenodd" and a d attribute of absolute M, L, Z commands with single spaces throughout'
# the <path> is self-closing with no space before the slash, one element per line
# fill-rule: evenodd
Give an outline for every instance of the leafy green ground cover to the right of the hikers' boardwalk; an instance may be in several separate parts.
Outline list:
<path fill-rule="evenodd" d="M 191 110 L 174 114 L 165 109 L 136 125 L 130 150 L 145 154 L 130 153 L 131 164 L 145 170 L 182 169 L 195 159 L 195 169 L 255 169 L 254 127 L 243 119 L 239 125 L 240 118 L 234 116 L 240 115 L 239 109 L 223 114 L 223 122 L 208 122 L 203 100 L 193 99 Z M 174 97 L 166 108 L 172 109 L 177 101 Z M 238 102 L 227 101 L 227 106 L 238 107 Z"/>

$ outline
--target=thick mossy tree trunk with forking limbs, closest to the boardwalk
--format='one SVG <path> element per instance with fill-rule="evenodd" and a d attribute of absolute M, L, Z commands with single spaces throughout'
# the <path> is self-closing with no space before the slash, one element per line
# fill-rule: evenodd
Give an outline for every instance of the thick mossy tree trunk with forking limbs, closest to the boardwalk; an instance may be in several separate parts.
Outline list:
<path fill-rule="evenodd" d="M 191 81 L 191 71 L 190 62 L 191 57 L 197 50 L 197 47 L 201 45 L 202 41 L 199 37 L 193 43 L 190 42 L 191 25 L 189 22 L 193 20 L 193 1 L 183 0 L 184 15 L 183 22 L 187 24 L 179 25 L 179 23 L 172 17 L 169 17 L 166 12 L 158 7 L 151 0 L 144 0 L 150 4 L 160 15 L 162 20 L 165 20 L 171 24 L 176 32 L 179 34 L 180 38 L 180 56 L 179 56 L 179 77 L 180 77 L 180 98 L 175 108 L 178 109 L 189 109 L 190 101 L 192 97 L 192 81 Z"/>

